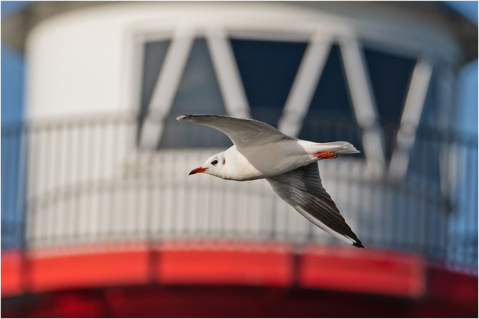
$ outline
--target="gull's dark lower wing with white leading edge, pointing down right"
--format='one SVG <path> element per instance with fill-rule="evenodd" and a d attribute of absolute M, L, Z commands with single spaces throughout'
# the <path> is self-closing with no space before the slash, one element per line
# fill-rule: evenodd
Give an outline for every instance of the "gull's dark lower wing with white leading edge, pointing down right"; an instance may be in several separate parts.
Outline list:
<path fill-rule="evenodd" d="M 331 235 L 356 247 L 363 247 L 339 213 L 339 209 L 321 184 L 318 163 L 299 167 L 266 180 L 286 203 Z"/>

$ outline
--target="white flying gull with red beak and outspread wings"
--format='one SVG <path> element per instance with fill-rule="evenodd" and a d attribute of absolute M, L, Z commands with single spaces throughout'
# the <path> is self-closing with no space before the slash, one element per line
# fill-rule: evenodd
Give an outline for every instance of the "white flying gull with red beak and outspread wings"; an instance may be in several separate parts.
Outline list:
<path fill-rule="evenodd" d="M 287 136 L 261 121 L 223 115 L 182 115 L 225 133 L 233 146 L 208 158 L 189 175 L 206 173 L 223 179 L 264 178 L 274 192 L 322 230 L 364 248 L 321 184 L 318 161 L 359 153 L 348 142 L 314 143 Z"/>

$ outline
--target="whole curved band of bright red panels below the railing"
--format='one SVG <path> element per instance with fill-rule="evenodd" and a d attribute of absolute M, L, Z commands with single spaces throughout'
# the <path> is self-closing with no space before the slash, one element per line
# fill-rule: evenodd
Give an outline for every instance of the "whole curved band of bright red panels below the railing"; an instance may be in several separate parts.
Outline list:
<path fill-rule="evenodd" d="M 23 292 L 146 285 L 319 288 L 418 298 L 422 257 L 349 246 L 277 242 L 145 242 L 2 253 L 1 296 Z"/>

